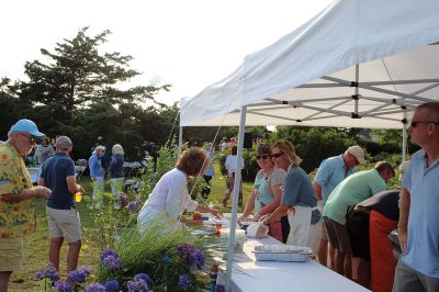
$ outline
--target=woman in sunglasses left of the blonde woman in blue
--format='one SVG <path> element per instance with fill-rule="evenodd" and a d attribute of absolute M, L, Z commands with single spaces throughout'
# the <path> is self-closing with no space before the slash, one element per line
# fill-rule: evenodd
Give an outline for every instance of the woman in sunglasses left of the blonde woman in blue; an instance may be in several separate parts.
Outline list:
<path fill-rule="evenodd" d="M 261 169 L 256 175 L 254 189 L 248 198 L 244 214 L 238 218 L 238 222 L 245 221 L 252 211 L 256 212 L 252 221 L 258 222 L 261 216 L 270 214 L 281 203 L 285 170 L 274 167 L 269 145 L 260 144 L 256 151 L 256 158 Z M 277 218 L 270 225 L 269 235 L 279 242 L 284 242 L 280 218 Z"/>

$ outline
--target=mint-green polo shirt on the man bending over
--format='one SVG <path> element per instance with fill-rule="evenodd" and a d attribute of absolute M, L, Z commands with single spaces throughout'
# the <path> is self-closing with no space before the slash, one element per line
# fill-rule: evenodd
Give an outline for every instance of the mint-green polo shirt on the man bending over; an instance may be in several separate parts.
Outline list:
<path fill-rule="evenodd" d="M 353 173 L 341 181 L 330 193 L 323 215 L 345 225 L 349 207 L 385 191 L 385 180 L 375 169 Z"/>

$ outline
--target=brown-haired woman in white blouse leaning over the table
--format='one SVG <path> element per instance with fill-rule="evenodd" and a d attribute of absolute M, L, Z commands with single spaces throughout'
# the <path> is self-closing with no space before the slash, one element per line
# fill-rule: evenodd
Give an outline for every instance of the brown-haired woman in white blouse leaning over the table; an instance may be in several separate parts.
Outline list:
<path fill-rule="evenodd" d="M 219 211 L 199 205 L 188 192 L 188 177 L 203 175 L 209 165 L 210 159 L 202 148 L 191 147 L 184 150 L 176 168 L 160 178 L 142 207 L 137 217 L 140 232 L 144 232 L 151 222 L 165 221 L 176 228 L 181 228 L 180 216 L 184 210 L 209 212 L 217 217 L 221 216 Z"/>

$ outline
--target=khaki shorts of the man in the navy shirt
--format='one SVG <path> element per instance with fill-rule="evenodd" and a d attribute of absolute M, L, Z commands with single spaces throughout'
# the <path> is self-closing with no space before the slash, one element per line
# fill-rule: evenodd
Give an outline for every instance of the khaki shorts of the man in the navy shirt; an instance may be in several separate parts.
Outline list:
<path fill-rule="evenodd" d="M 46 206 L 50 237 L 64 237 L 68 243 L 81 239 L 81 222 L 78 210 L 58 210 Z"/>

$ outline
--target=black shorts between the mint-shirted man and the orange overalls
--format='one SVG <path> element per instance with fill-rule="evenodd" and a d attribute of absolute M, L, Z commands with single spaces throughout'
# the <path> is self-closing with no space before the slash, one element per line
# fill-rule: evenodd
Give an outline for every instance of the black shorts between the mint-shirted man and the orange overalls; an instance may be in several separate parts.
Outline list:
<path fill-rule="evenodd" d="M 352 257 L 368 261 L 370 261 L 369 218 L 370 214 L 358 210 L 351 210 L 346 216 Z"/>

